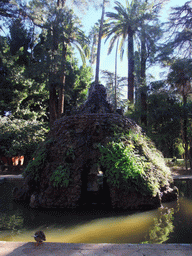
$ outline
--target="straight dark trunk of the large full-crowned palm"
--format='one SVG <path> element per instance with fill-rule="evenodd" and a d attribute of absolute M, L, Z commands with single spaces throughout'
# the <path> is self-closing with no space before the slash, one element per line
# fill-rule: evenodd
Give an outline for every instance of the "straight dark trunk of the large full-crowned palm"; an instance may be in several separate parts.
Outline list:
<path fill-rule="evenodd" d="M 134 32 L 128 34 L 128 100 L 132 104 L 134 102 L 134 48 L 133 48 Z"/>

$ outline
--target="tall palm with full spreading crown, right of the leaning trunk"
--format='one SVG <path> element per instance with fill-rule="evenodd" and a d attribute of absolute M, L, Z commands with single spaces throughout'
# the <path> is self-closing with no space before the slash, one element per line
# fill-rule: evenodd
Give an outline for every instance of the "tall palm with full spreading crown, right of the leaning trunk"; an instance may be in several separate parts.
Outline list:
<path fill-rule="evenodd" d="M 106 41 L 110 38 L 110 53 L 115 42 L 120 38 L 121 58 L 124 54 L 124 46 L 126 40 L 128 51 L 128 100 L 130 103 L 134 101 L 134 36 L 141 28 L 144 20 L 151 19 L 151 6 L 147 1 L 132 0 L 129 3 L 126 0 L 125 7 L 120 2 L 115 2 L 116 12 L 108 12 L 108 24 L 105 26 L 107 35 Z"/>

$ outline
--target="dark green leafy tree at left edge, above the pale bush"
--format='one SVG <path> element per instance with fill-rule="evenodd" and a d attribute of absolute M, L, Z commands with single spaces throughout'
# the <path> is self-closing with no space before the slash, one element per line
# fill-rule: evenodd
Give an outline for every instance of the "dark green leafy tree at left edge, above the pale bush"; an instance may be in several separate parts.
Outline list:
<path fill-rule="evenodd" d="M 23 61 L 23 47 L 12 55 L 9 40 L 1 37 L 0 41 L 1 115 L 9 113 L 16 118 L 47 120 L 45 83 L 39 84 L 28 76 L 27 70 L 30 67 Z"/>

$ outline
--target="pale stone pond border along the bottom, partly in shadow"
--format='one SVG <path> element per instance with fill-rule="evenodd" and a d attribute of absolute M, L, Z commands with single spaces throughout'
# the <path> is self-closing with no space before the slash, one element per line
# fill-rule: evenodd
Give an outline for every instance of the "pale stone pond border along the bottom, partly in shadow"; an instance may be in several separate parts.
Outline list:
<path fill-rule="evenodd" d="M 0 242 L 1 256 L 190 256 L 192 244 L 71 244 Z"/>

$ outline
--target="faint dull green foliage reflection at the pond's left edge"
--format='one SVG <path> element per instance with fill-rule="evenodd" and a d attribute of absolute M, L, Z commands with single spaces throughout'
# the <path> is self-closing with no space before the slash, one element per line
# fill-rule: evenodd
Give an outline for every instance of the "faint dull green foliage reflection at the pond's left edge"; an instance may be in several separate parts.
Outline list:
<path fill-rule="evenodd" d="M 23 227 L 23 218 L 20 211 L 13 215 L 3 213 L 0 215 L 0 230 L 19 230 Z"/>

